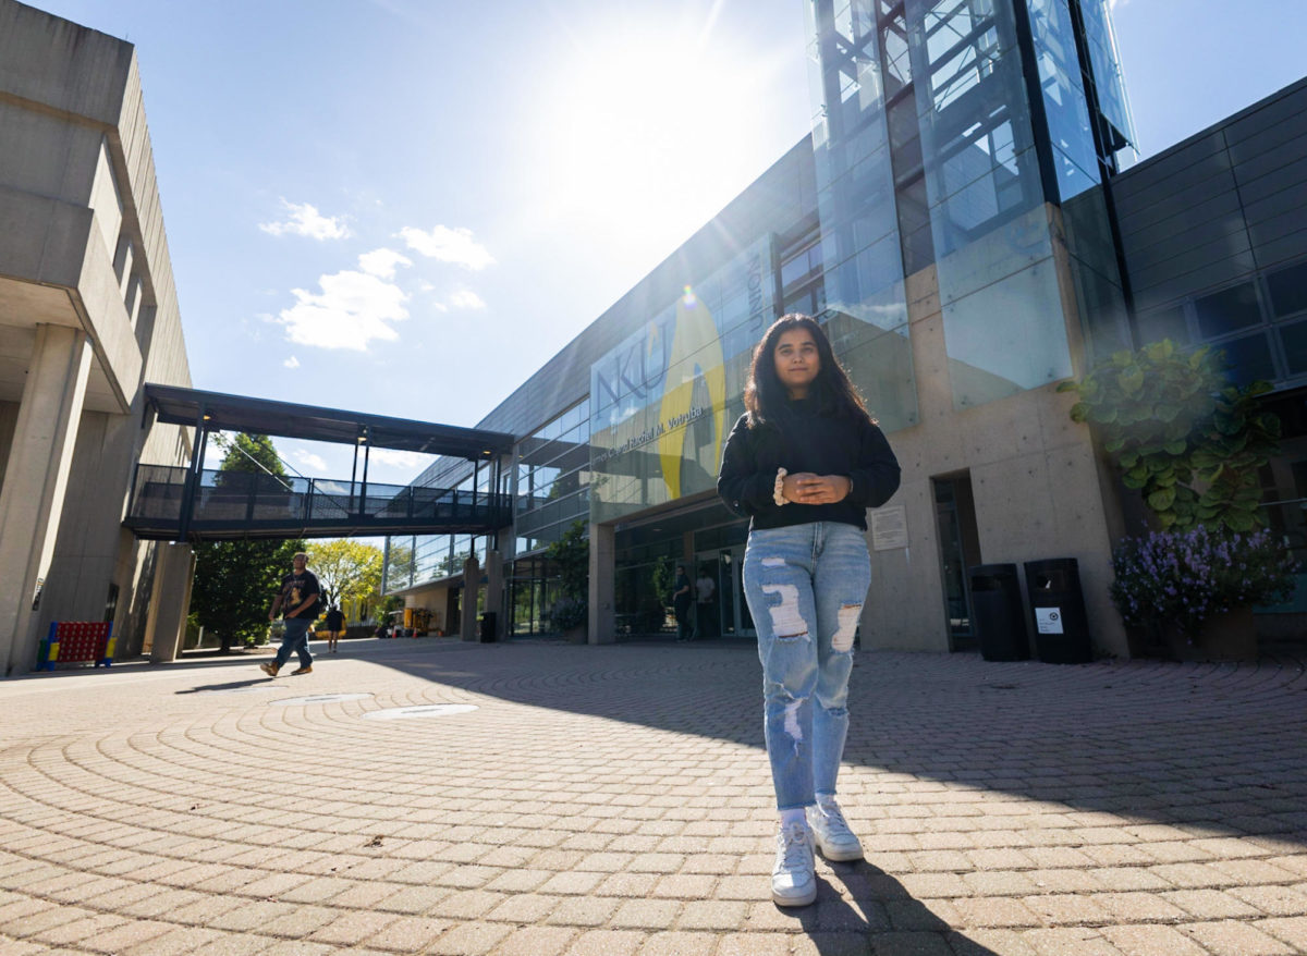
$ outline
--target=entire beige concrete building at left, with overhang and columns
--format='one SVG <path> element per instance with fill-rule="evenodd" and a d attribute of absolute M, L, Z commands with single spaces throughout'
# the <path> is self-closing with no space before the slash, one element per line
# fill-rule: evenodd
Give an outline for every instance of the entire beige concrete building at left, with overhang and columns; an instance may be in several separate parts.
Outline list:
<path fill-rule="evenodd" d="M 0 666 L 51 620 L 112 620 L 170 656 L 190 547 L 122 525 L 139 461 L 190 430 L 144 421 L 145 381 L 190 385 L 132 44 L 0 0 Z M 153 639 L 153 641 L 152 641 Z"/>

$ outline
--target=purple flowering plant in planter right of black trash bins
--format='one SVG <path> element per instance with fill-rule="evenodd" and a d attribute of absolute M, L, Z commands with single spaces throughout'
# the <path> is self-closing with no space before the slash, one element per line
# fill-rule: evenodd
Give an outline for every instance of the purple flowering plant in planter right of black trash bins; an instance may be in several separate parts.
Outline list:
<path fill-rule="evenodd" d="M 1283 601 L 1295 567 L 1266 530 L 1153 532 L 1125 538 L 1112 552 L 1112 603 L 1127 624 L 1174 622 L 1193 639 L 1213 615 Z"/>

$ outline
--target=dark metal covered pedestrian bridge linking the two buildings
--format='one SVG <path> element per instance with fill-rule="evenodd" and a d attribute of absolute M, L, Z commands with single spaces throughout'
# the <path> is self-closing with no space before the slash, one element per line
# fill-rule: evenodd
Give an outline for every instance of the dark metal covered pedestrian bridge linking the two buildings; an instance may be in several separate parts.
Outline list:
<path fill-rule="evenodd" d="M 502 487 L 511 435 L 162 385 L 146 385 L 145 396 L 148 415 L 191 424 L 196 436 L 190 465 L 136 466 L 123 524 L 137 538 L 493 534 L 512 520 L 508 495 L 476 490 L 481 469 L 490 471 L 489 487 Z M 337 479 L 205 469 L 207 439 L 216 431 L 350 444 L 354 470 Z M 369 482 L 372 448 L 465 458 L 473 462 L 473 487 Z"/>

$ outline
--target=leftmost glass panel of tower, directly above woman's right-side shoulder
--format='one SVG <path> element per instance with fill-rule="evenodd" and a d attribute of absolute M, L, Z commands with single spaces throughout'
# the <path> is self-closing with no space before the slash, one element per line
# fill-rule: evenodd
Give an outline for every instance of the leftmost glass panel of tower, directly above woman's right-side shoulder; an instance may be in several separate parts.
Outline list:
<path fill-rule="evenodd" d="M 885 30 L 893 30 L 895 9 L 902 21 L 902 4 L 884 0 L 812 0 L 806 7 L 825 272 L 826 308 L 819 319 L 835 354 L 887 431 L 912 424 L 918 417 L 901 227 L 920 238 L 924 225 L 920 202 L 916 218 L 910 205 L 901 217 L 895 204 L 895 159 L 906 172 L 914 165 L 916 141 L 899 128 L 891 148 L 886 74 L 898 94 L 902 73 L 910 72 L 902 43 L 890 37 L 886 46 L 884 38 Z M 914 260 L 910 268 L 924 264 Z"/>

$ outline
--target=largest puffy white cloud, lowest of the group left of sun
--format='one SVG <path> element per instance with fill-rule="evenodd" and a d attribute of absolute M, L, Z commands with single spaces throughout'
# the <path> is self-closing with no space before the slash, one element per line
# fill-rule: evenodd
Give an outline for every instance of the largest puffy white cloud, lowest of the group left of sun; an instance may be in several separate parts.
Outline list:
<path fill-rule="evenodd" d="M 391 323 L 408 319 L 404 308 L 408 296 L 399 286 L 350 269 L 323 276 L 318 282 L 320 294 L 291 289 L 295 304 L 277 316 L 291 342 L 367 351 L 374 338 L 399 338 Z"/>

